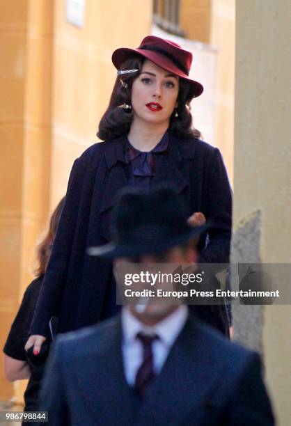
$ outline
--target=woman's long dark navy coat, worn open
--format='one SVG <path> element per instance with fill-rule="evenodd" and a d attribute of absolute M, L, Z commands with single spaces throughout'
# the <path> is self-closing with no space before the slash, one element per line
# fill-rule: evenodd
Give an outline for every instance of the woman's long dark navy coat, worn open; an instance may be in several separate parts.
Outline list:
<path fill-rule="evenodd" d="M 125 139 L 95 143 L 74 161 L 31 334 L 48 336 L 47 324 L 53 315 L 59 317 L 60 332 L 102 319 L 112 280 L 111 262 L 91 258 L 86 248 L 110 239 L 116 194 L 127 185 Z M 203 212 L 212 222 L 210 243 L 200 251 L 200 261 L 228 262 L 231 191 L 219 150 L 195 138 L 170 135 L 166 152 L 154 155 L 152 185 L 165 182 L 184 198 L 189 214 Z"/>

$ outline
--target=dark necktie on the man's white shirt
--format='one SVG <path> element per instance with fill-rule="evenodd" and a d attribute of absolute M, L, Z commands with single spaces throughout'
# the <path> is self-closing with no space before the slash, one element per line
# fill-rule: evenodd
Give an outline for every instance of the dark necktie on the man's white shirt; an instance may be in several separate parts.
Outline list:
<path fill-rule="evenodd" d="M 141 344 L 143 345 L 143 362 L 136 372 L 135 390 L 139 395 L 143 395 L 148 384 L 155 379 L 152 342 L 159 337 L 156 334 L 149 336 L 148 334 L 138 333 L 136 338 L 141 340 Z"/>

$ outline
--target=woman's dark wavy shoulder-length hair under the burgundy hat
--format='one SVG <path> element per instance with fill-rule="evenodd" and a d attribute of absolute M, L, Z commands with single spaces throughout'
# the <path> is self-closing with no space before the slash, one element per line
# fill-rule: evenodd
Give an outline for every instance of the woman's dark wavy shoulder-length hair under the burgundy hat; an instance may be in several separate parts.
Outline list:
<path fill-rule="evenodd" d="M 134 118 L 133 111 L 127 113 L 123 110 L 123 104 L 130 104 L 132 95 L 132 84 L 139 77 L 145 58 L 134 55 L 127 59 L 119 70 L 139 70 L 134 74 L 123 74 L 122 79 L 116 78 L 109 106 L 102 116 L 97 132 L 98 138 L 103 141 L 110 141 L 117 136 L 129 133 L 130 125 Z M 123 87 L 127 84 L 127 88 Z M 178 93 L 178 117 L 173 112 L 170 118 L 169 130 L 172 134 L 180 137 L 195 136 L 199 138 L 200 132 L 192 126 L 192 116 L 190 112 L 190 102 L 195 96 L 195 90 L 187 80 L 179 79 Z"/>

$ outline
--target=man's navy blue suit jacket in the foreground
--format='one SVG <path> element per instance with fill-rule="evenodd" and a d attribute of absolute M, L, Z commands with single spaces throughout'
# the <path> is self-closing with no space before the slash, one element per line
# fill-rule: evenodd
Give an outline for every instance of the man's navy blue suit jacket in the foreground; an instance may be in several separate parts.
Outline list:
<path fill-rule="evenodd" d="M 194 317 L 137 408 L 121 343 L 120 316 L 58 338 L 41 394 L 49 425 L 274 425 L 258 355 Z"/>

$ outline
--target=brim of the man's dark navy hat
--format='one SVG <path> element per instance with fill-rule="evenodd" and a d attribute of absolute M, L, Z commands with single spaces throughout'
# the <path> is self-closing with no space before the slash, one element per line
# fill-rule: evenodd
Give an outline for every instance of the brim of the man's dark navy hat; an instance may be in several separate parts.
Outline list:
<path fill-rule="evenodd" d="M 190 228 L 189 232 L 176 237 L 175 239 L 168 239 L 167 241 L 155 242 L 155 244 L 144 244 L 138 242 L 136 244 L 122 244 L 122 243 L 109 243 L 103 246 L 89 247 L 87 250 L 88 255 L 96 256 L 98 258 L 113 259 L 113 258 L 135 258 L 136 256 L 149 255 L 155 253 L 162 253 L 175 246 L 180 246 L 189 239 L 203 234 L 210 228 L 210 224 L 206 223 L 203 226 L 195 226 Z"/>

